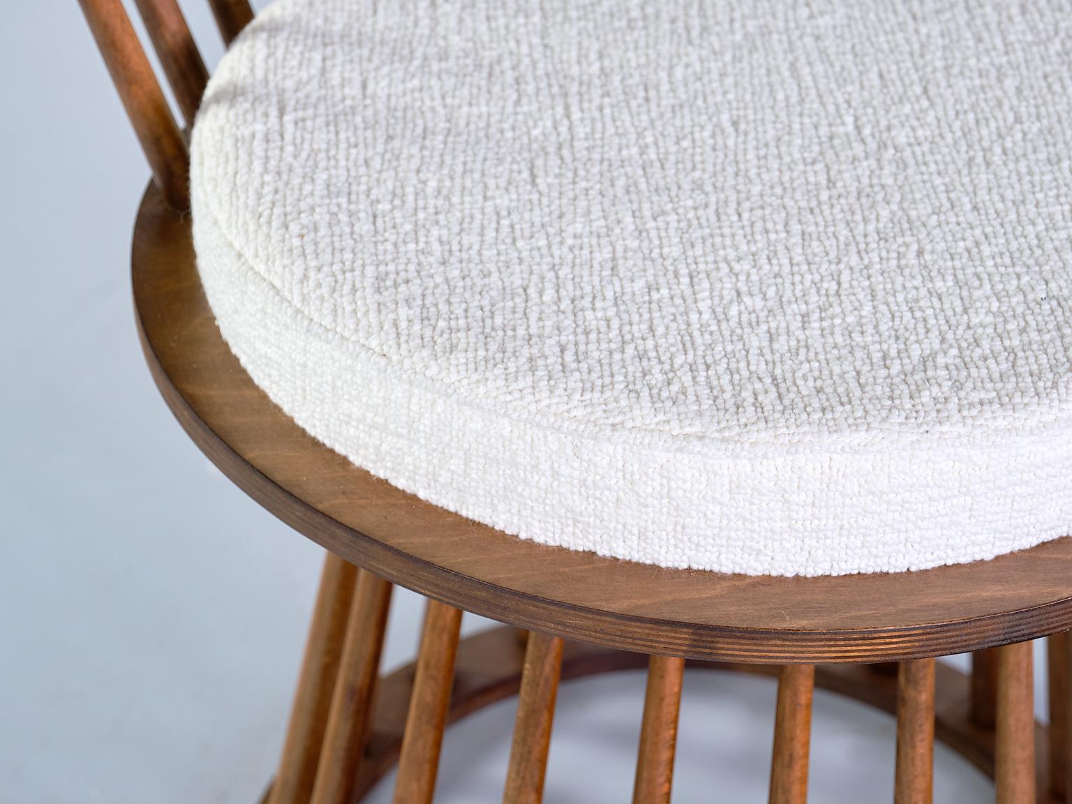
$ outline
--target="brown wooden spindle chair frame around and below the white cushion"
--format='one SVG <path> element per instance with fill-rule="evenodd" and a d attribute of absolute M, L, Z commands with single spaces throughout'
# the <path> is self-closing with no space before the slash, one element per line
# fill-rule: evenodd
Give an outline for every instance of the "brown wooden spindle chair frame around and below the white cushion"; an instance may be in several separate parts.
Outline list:
<path fill-rule="evenodd" d="M 187 135 L 121 0 L 79 0 L 152 170 L 134 230 L 138 336 L 166 404 L 239 488 L 327 550 L 269 804 L 359 801 L 392 765 L 430 802 L 448 724 L 518 711 L 504 802 L 540 801 L 560 681 L 647 670 L 634 801 L 670 801 L 686 667 L 777 680 L 772 804 L 807 796 L 813 689 L 895 714 L 898 804 L 932 799 L 934 740 L 1001 804 L 1072 804 L 1072 539 L 913 572 L 748 577 L 518 540 L 423 503 L 322 446 L 253 384 L 195 268 Z M 210 0 L 226 43 L 247 0 Z M 208 80 L 176 0 L 137 0 L 185 126 Z M 393 584 L 428 598 L 416 661 L 379 675 Z M 460 639 L 464 612 L 506 623 Z M 1032 709 L 1046 638 L 1049 725 Z M 970 652 L 970 673 L 935 657 Z M 506 739 L 506 735 L 503 735 Z"/>

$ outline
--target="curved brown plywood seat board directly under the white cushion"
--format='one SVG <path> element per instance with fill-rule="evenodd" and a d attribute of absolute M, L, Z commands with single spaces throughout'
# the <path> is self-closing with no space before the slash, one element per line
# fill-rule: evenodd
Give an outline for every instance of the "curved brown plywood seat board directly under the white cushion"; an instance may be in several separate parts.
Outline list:
<path fill-rule="evenodd" d="M 134 236 L 144 352 L 193 441 L 287 524 L 376 575 L 486 616 L 644 653 L 772 664 L 972 651 L 1072 627 L 1072 539 L 919 572 L 774 578 L 674 570 L 512 538 L 318 445 L 220 337 L 189 220 L 150 188 Z"/>

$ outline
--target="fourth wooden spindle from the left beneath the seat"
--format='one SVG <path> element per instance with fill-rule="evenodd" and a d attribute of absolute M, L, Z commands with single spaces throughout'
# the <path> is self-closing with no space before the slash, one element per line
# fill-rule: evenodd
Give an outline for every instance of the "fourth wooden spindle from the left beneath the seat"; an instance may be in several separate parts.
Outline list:
<path fill-rule="evenodd" d="M 503 804 L 539 804 L 544 798 L 554 700 L 562 669 L 562 640 L 531 631 L 525 649 L 518 718 Z"/>

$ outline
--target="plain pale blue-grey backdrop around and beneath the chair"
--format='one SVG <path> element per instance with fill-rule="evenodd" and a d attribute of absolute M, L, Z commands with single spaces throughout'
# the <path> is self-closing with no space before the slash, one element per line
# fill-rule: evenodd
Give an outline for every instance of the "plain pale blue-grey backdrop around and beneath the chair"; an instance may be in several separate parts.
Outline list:
<path fill-rule="evenodd" d="M 211 65 L 206 3 L 184 8 Z M 0 10 L 0 802 L 250 804 L 323 553 L 202 457 L 144 368 L 128 260 L 148 173 L 76 3 Z M 397 595 L 386 666 L 421 610 Z M 628 801 L 642 699 L 641 673 L 563 686 L 547 801 Z M 765 801 L 773 705 L 771 681 L 688 673 L 674 801 Z M 507 701 L 447 732 L 437 801 L 500 799 L 512 717 Z M 817 694 L 810 801 L 890 801 L 893 736 Z M 993 795 L 936 762 L 936 801 Z M 372 800 L 389 798 L 390 779 Z"/>

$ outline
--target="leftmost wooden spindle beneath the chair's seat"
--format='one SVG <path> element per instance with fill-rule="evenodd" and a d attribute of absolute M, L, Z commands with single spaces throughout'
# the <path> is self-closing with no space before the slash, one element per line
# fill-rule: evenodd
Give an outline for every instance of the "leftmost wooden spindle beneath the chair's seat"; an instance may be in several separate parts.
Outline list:
<path fill-rule="evenodd" d="M 312 796 L 356 580 L 357 567 L 327 554 L 268 804 L 308 804 Z"/>

